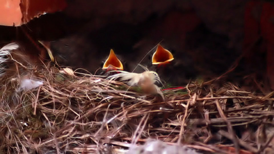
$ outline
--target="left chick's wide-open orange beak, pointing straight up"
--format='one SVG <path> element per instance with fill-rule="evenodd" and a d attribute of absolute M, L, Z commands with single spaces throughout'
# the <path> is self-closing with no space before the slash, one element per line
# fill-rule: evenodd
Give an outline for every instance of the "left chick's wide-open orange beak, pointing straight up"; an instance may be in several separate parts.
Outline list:
<path fill-rule="evenodd" d="M 117 58 L 115 55 L 113 49 L 111 49 L 111 52 L 108 55 L 108 58 L 106 59 L 103 70 L 123 70 L 123 64 L 121 61 Z"/>

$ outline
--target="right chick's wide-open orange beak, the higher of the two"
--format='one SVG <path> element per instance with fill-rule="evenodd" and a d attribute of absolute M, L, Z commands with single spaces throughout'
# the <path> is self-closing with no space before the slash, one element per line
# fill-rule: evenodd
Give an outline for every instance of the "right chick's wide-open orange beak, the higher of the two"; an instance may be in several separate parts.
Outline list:
<path fill-rule="evenodd" d="M 169 50 L 163 48 L 161 45 L 158 45 L 156 51 L 152 55 L 153 65 L 168 64 L 173 60 L 174 57 L 172 53 Z"/>

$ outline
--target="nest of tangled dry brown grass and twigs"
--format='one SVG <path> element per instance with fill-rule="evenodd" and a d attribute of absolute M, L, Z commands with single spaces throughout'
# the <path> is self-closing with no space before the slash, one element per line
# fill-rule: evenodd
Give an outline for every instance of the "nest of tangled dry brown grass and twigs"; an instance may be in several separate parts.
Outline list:
<path fill-rule="evenodd" d="M 195 85 L 144 95 L 138 88 L 51 67 L 43 85 L 14 92 L 1 85 L 0 153 L 126 153 L 158 139 L 198 152 L 271 152 L 273 93 L 230 83 Z"/>

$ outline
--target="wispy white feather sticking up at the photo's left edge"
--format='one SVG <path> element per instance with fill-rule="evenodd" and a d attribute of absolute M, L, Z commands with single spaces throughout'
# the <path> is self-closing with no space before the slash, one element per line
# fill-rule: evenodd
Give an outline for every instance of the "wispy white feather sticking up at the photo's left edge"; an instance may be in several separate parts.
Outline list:
<path fill-rule="evenodd" d="M 5 74 L 5 65 L 4 63 L 8 60 L 7 55 L 14 49 L 19 48 L 19 45 L 16 43 L 10 43 L 5 45 L 0 49 L 0 77 Z"/>

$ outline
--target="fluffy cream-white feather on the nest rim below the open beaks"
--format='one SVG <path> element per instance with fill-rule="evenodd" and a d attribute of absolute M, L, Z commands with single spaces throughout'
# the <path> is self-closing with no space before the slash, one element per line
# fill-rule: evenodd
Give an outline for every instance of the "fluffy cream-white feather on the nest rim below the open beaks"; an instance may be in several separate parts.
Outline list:
<path fill-rule="evenodd" d="M 127 71 L 119 71 L 119 74 L 109 76 L 107 79 L 116 80 L 120 78 L 120 81 L 126 82 L 129 86 L 138 86 L 146 94 L 158 93 L 164 100 L 161 89 L 155 85 L 155 83 L 161 83 L 158 74 L 154 71 L 149 71 L 145 68 L 142 73 L 131 73 Z"/>

